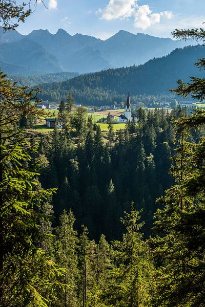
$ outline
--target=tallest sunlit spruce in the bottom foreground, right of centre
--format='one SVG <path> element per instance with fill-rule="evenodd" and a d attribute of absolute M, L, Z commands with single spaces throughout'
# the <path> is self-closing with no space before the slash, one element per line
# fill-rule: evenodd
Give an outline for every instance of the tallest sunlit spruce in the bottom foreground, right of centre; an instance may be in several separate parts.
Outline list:
<path fill-rule="evenodd" d="M 150 306 L 153 293 L 153 264 L 146 242 L 140 233 L 140 212 L 132 203 L 121 222 L 126 227 L 122 241 L 113 242 L 113 264 L 105 303 L 113 306 Z"/>

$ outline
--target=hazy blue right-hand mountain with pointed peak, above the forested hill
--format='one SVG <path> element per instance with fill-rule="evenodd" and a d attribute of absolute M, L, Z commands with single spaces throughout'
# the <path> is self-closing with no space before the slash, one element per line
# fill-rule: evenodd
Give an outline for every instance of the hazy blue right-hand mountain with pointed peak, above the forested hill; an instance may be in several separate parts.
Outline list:
<path fill-rule="evenodd" d="M 112 67 L 117 68 L 142 64 L 186 45 L 185 41 L 174 41 L 171 38 L 159 38 L 142 33 L 135 35 L 120 30 L 107 40 L 97 42 L 96 48 Z"/>

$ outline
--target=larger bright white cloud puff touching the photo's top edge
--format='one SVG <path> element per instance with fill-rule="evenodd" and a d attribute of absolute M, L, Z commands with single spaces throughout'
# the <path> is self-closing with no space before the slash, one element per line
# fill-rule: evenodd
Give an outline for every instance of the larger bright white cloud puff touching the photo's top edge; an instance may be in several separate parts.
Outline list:
<path fill-rule="evenodd" d="M 110 0 L 105 9 L 99 9 L 96 13 L 101 15 L 101 19 L 124 19 L 134 14 L 135 8 L 136 0 Z"/>

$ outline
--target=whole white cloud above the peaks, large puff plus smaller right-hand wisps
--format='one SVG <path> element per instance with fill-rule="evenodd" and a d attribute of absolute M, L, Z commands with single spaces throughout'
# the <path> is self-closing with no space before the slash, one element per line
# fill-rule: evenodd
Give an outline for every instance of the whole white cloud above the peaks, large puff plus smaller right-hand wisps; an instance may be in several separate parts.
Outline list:
<path fill-rule="evenodd" d="M 153 13 L 149 5 L 137 4 L 138 0 L 109 0 L 104 9 L 99 9 L 96 13 L 101 19 L 114 20 L 126 19 L 134 16 L 134 26 L 146 30 L 152 25 L 159 24 L 161 17 L 172 18 L 171 11 Z"/>

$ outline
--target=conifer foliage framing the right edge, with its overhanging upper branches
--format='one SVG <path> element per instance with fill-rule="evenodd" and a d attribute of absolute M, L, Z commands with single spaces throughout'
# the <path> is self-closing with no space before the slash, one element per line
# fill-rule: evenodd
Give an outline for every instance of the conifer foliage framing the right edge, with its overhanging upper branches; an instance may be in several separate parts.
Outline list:
<path fill-rule="evenodd" d="M 176 37 L 198 37 L 204 31 L 176 30 Z M 203 59 L 199 65 L 203 65 Z M 203 67 L 204 68 L 204 67 Z M 178 81 L 178 95 L 203 99 L 203 79 L 191 77 L 191 83 Z M 204 287 L 204 136 L 193 140 L 191 131 L 204 130 L 204 111 L 176 120 L 178 146 L 171 173 L 175 185 L 158 202 L 155 228 L 160 234 L 153 239 L 155 246 L 158 295 L 156 306 L 198 306 L 205 304 Z"/>

